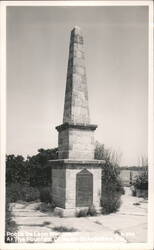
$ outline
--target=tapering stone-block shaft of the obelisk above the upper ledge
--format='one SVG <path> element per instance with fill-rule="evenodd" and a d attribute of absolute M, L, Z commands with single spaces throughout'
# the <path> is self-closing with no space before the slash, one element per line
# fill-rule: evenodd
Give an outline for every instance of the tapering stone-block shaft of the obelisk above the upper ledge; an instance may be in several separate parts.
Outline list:
<path fill-rule="evenodd" d="M 83 48 L 79 27 L 71 32 L 63 123 L 89 124 L 88 90 Z"/>

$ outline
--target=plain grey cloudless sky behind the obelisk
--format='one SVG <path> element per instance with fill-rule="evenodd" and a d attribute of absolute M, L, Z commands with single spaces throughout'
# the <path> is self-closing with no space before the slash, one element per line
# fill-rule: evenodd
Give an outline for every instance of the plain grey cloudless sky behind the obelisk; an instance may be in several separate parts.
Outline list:
<path fill-rule="evenodd" d="M 146 6 L 7 7 L 7 154 L 58 145 L 70 31 L 82 29 L 95 140 L 121 165 L 147 155 Z"/>

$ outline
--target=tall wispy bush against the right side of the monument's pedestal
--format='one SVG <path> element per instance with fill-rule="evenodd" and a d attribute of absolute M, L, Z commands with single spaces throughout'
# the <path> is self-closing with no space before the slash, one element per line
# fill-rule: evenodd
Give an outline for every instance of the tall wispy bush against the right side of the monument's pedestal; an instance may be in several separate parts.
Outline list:
<path fill-rule="evenodd" d="M 124 194 L 124 188 L 119 177 L 120 157 L 116 152 L 106 149 L 103 144 L 96 144 L 95 159 L 105 160 L 102 167 L 101 190 L 103 214 L 116 212 L 121 205 L 121 195 Z"/>

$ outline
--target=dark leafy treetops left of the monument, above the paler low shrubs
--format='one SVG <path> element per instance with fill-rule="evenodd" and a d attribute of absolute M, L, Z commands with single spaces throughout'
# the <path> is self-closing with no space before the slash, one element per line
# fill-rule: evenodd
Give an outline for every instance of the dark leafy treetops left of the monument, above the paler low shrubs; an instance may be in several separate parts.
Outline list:
<path fill-rule="evenodd" d="M 7 155 L 6 183 L 47 185 L 51 181 L 49 160 L 57 159 L 57 157 L 57 148 L 39 149 L 36 155 L 28 156 L 26 160 L 21 155 Z"/>

